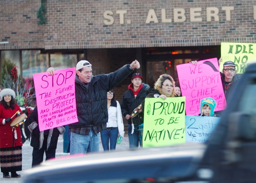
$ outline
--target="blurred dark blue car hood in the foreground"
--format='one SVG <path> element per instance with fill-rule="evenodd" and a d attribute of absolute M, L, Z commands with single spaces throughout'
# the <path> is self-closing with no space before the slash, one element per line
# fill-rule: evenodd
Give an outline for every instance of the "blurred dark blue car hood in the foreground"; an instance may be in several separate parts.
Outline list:
<path fill-rule="evenodd" d="M 191 143 L 62 156 L 25 171 L 24 182 L 184 178 L 195 173 L 205 147 L 202 143 Z"/>

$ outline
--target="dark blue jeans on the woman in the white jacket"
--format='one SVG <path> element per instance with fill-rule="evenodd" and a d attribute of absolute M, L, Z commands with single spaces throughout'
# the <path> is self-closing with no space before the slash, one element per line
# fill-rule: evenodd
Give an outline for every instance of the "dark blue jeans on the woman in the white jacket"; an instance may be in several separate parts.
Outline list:
<path fill-rule="evenodd" d="M 116 141 L 118 137 L 118 127 L 110 127 L 107 130 L 102 130 L 100 132 L 101 143 L 104 151 L 109 151 L 109 142 L 110 150 L 116 149 Z"/>

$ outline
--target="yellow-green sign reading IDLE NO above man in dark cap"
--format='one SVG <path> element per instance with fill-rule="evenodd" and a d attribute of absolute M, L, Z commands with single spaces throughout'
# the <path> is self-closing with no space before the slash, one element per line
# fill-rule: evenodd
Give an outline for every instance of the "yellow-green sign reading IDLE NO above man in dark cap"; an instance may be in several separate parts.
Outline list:
<path fill-rule="evenodd" d="M 220 53 L 223 60 L 220 64 L 220 71 L 223 69 L 223 63 L 230 60 L 236 64 L 237 73 L 242 74 L 247 64 L 256 61 L 256 44 L 222 42 Z"/>

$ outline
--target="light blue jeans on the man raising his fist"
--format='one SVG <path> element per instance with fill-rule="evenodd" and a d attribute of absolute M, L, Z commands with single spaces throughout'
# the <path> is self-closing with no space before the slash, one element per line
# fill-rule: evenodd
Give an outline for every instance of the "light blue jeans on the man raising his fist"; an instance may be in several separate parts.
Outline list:
<path fill-rule="evenodd" d="M 100 135 L 90 130 L 89 135 L 81 135 L 71 132 L 70 154 L 87 152 L 99 152 Z"/>

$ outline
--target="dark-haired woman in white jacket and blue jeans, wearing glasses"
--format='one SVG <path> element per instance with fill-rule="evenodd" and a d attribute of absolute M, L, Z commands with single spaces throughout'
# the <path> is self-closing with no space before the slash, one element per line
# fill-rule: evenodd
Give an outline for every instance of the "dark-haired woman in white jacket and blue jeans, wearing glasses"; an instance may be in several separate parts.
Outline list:
<path fill-rule="evenodd" d="M 107 92 L 108 98 L 108 123 L 107 130 L 100 132 L 101 143 L 104 151 L 116 149 L 116 141 L 118 132 L 124 138 L 124 123 L 122 118 L 121 107 L 118 101 L 115 100 L 113 90 Z M 110 142 L 110 147 L 109 147 Z"/>

